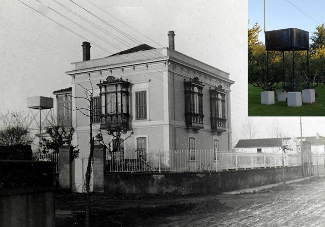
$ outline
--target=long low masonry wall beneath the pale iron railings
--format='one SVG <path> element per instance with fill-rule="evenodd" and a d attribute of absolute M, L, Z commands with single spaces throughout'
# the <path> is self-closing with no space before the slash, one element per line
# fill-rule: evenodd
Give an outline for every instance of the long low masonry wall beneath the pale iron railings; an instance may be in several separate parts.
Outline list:
<path fill-rule="evenodd" d="M 319 173 L 320 171 L 324 172 L 324 166 L 319 167 Z M 285 167 L 286 180 L 301 177 L 301 167 Z M 195 173 L 110 173 L 104 176 L 104 190 L 109 194 L 206 195 L 273 184 L 282 180 L 282 168 Z"/>

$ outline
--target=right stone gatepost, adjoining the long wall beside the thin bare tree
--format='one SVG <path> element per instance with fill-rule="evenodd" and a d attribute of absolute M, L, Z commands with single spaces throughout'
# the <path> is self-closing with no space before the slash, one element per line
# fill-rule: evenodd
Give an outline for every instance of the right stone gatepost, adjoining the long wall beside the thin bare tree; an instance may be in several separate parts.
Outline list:
<path fill-rule="evenodd" d="M 93 150 L 93 191 L 104 192 L 104 152 L 105 147 L 95 145 Z"/>

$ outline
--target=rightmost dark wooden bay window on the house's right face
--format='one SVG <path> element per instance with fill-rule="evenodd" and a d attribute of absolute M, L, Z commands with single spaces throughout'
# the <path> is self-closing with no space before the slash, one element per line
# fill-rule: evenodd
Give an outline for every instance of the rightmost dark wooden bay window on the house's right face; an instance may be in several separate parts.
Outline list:
<path fill-rule="evenodd" d="M 219 85 L 210 90 L 211 129 L 217 132 L 226 131 L 225 90 Z"/>

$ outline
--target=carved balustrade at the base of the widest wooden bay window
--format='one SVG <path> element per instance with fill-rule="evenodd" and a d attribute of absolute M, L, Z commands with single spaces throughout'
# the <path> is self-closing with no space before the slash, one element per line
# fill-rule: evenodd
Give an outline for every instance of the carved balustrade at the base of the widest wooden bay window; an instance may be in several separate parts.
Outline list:
<path fill-rule="evenodd" d="M 128 130 L 129 114 L 104 114 L 101 117 L 101 129 Z"/>

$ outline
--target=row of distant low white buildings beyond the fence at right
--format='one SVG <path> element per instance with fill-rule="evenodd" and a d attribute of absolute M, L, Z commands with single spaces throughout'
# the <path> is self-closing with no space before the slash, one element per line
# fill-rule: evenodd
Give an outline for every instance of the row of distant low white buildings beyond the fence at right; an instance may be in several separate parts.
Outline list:
<path fill-rule="evenodd" d="M 325 154 L 325 137 L 307 136 L 302 138 L 303 142 L 310 144 L 312 154 Z M 265 139 L 242 139 L 235 146 L 236 152 L 250 153 L 277 153 L 282 151 L 285 145 L 290 150 L 289 154 L 297 154 L 300 152 L 300 137 L 284 137 L 284 138 L 265 138 Z"/>

